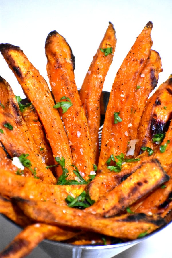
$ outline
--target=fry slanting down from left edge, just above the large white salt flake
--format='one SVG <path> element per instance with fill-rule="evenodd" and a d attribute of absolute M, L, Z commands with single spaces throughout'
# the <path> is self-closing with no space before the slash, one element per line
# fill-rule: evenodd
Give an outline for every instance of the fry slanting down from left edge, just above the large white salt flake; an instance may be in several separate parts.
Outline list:
<path fill-rule="evenodd" d="M 12 130 L 5 127 L 8 123 L 12 126 Z M 11 157 L 29 154 L 28 159 L 31 161 L 32 171 L 36 170 L 34 174 L 30 169 L 25 169 L 26 175 L 37 176 L 45 183 L 56 183 L 52 172 L 46 169 L 42 157 L 36 152 L 36 146 L 26 124 L 22 122 L 16 124 L 13 115 L 4 112 L 2 107 L 0 107 L 0 128 L 3 130 L 3 133 L 0 133 L 0 140 Z"/>

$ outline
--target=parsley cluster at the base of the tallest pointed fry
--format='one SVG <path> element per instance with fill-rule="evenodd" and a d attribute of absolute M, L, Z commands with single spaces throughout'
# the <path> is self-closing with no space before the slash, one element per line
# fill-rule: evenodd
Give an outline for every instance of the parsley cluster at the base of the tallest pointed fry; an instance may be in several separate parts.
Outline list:
<path fill-rule="evenodd" d="M 106 161 L 107 163 L 107 168 L 110 169 L 110 171 L 115 171 L 115 172 L 120 172 L 121 171 L 121 168 L 122 168 L 122 163 L 124 162 L 134 162 L 134 161 L 139 161 L 140 159 L 134 159 L 134 158 L 131 158 L 131 159 L 127 159 L 127 158 L 124 158 L 125 155 L 123 153 L 121 153 L 120 155 L 117 155 L 114 157 L 114 155 L 110 155 L 109 159 Z M 116 161 L 116 159 L 117 161 Z M 113 165 L 111 166 L 110 163 L 111 161 L 115 162 L 116 165 Z"/>

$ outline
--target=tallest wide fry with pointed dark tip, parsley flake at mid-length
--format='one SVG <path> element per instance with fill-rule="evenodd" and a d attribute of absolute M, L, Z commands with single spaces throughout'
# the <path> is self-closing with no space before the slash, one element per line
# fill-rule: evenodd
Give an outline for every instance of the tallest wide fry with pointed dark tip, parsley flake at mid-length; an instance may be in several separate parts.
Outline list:
<path fill-rule="evenodd" d="M 125 132 L 130 124 L 137 82 L 150 57 L 152 26 L 151 22 L 146 24 L 114 79 L 102 130 L 98 173 L 106 169 L 105 163 L 110 155 L 119 155 L 127 151 L 128 136 Z"/>

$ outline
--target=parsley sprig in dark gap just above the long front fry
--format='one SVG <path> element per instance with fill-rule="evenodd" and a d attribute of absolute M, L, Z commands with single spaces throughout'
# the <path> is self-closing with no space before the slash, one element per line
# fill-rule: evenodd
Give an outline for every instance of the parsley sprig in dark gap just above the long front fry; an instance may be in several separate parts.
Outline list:
<path fill-rule="evenodd" d="M 65 201 L 69 207 L 77 207 L 79 209 L 90 207 L 95 203 L 95 201 L 90 198 L 89 194 L 86 193 L 86 191 L 83 191 L 75 198 L 71 195 L 68 195 L 67 198 L 65 198 Z"/>

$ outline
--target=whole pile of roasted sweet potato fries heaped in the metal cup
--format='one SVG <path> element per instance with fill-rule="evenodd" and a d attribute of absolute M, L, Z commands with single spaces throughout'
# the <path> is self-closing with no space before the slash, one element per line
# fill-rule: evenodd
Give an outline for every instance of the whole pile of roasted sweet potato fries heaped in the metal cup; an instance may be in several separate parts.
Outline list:
<path fill-rule="evenodd" d="M 0 77 L 0 213 L 23 228 L 0 257 L 24 257 L 43 239 L 137 239 L 171 219 L 172 75 L 157 87 L 162 67 L 152 27 L 149 21 L 116 74 L 101 144 L 100 97 L 116 47 L 112 23 L 80 91 L 75 58 L 58 32 L 45 43 L 50 87 L 21 48 L 0 44 L 27 99 Z"/>

